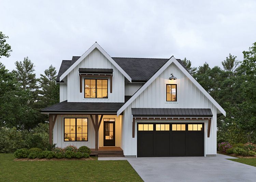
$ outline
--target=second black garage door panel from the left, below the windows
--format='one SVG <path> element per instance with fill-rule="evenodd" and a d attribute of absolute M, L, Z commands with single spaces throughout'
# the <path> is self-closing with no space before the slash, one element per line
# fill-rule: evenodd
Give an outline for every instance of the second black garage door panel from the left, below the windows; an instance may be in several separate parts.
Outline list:
<path fill-rule="evenodd" d="M 170 132 L 156 132 L 156 156 L 170 156 Z"/>

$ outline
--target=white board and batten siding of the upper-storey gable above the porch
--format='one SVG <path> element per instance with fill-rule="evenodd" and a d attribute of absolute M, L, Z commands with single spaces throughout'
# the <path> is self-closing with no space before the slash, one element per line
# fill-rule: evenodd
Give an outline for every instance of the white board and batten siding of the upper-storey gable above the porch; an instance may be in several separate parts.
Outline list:
<path fill-rule="evenodd" d="M 80 93 L 79 68 L 107 68 L 113 69 L 112 93 L 110 93 L 110 78 L 108 78 L 108 98 L 84 98 L 84 78 L 82 79 L 82 93 Z M 125 77 L 124 75 L 96 48 L 85 57 L 67 75 L 68 102 L 124 102 Z M 94 79 L 93 77 L 87 77 Z M 95 77 L 106 79 L 106 77 Z"/>

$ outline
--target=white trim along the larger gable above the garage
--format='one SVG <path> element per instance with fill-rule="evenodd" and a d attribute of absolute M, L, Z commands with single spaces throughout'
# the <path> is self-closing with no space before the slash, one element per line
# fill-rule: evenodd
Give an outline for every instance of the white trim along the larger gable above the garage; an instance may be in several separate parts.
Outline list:
<path fill-rule="evenodd" d="M 187 70 L 172 56 L 132 97 L 117 111 L 117 115 L 121 114 L 171 63 L 174 63 L 195 86 L 215 105 L 215 107 L 226 116 L 226 111 L 212 98 L 212 96 L 204 90 L 204 88 L 191 76 Z"/>

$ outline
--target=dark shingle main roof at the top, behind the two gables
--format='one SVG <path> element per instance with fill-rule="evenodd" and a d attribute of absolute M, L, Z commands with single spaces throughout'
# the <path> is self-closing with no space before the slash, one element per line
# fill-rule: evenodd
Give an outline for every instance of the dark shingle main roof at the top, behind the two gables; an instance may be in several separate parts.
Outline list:
<path fill-rule="evenodd" d="M 62 61 L 57 76 L 57 83 L 59 82 L 60 76 L 79 58 L 80 56 L 73 56 L 72 60 L 70 60 L 69 63 L 67 63 L 67 60 L 63 60 L 64 63 Z M 112 59 L 116 61 L 116 63 L 131 77 L 132 81 L 134 82 L 146 82 L 169 60 L 160 58 L 127 57 L 112 57 Z M 180 59 L 177 59 L 177 61 L 187 70 L 187 68 Z"/>

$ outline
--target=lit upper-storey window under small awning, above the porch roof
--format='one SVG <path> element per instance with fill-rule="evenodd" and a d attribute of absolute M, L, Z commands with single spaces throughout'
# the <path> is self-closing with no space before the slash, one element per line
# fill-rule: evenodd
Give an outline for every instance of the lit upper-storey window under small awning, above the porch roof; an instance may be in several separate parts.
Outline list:
<path fill-rule="evenodd" d="M 108 79 L 84 79 L 84 98 L 108 98 Z"/>

